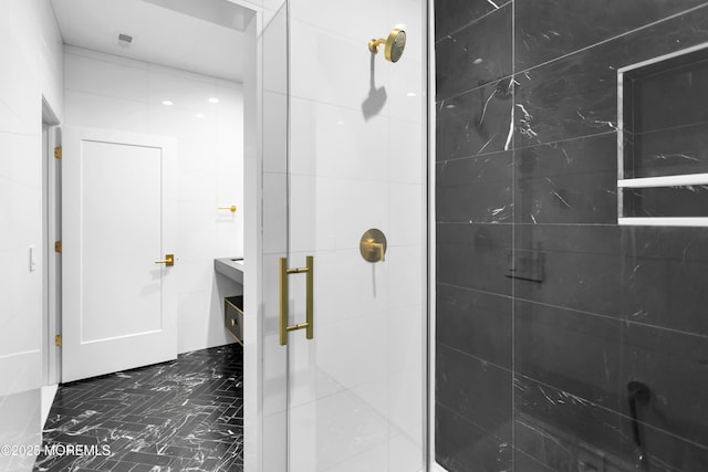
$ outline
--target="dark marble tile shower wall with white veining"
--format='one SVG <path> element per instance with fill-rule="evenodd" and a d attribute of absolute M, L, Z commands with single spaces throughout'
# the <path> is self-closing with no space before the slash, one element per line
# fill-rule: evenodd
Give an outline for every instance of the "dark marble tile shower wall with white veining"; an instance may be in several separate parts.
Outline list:
<path fill-rule="evenodd" d="M 708 229 L 616 223 L 617 70 L 708 42 L 708 2 L 435 8 L 436 460 L 708 470 Z M 663 86 L 645 94 L 690 102 Z M 700 116 L 647 112 L 652 155 L 708 165 Z M 705 189 L 666 191 L 708 214 Z M 642 211 L 666 211 L 664 193 L 645 191 Z"/>

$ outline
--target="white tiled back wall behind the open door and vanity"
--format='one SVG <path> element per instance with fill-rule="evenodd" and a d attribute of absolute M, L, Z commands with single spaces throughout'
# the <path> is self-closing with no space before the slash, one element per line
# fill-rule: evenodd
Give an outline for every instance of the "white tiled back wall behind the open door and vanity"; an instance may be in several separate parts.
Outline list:
<path fill-rule="evenodd" d="M 222 297 L 241 292 L 214 272 L 214 259 L 243 254 L 241 84 L 73 46 L 64 57 L 66 125 L 177 139 L 176 160 L 164 167 L 164 221 L 175 241 L 166 251 L 177 258 L 176 293 L 166 296 L 177 301 L 178 352 L 231 342 Z M 217 210 L 231 204 L 236 213 Z"/>

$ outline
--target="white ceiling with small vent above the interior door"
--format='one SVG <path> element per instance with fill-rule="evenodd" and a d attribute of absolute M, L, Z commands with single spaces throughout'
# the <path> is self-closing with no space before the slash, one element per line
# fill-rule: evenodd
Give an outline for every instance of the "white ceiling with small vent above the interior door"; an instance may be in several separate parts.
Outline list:
<path fill-rule="evenodd" d="M 65 44 L 243 81 L 242 31 L 253 12 L 229 0 L 52 0 L 52 7 Z"/>

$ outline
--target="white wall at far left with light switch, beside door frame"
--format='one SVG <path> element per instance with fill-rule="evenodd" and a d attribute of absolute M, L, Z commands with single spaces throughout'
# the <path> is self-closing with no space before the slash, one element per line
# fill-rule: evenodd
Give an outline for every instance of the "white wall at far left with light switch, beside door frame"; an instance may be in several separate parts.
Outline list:
<path fill-rule="evenodd" d="M 63 114 L 62 40 L 48 1 L 0 3 L 0 444 L 39 444 L 42 96 Z M 0 454 L 0 471 L 32 462 Z"/>

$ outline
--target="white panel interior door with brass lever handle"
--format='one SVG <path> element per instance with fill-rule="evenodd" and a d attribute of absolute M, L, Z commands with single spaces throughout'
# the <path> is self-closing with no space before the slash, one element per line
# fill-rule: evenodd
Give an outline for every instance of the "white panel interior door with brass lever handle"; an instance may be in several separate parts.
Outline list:
<path fill-rule="evenodd" d="M 177 357 L 165 310 L 163 165 L 169 140 L 65 127 L 62 381 Z"/>

